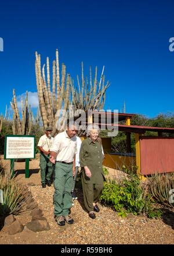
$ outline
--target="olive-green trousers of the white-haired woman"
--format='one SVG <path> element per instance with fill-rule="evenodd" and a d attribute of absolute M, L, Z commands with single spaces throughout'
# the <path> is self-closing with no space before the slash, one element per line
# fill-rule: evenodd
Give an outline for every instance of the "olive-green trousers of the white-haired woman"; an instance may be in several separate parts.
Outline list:
<path fill-rule="evenodd" d="M 96 202 L 99 199 L 103 184 L 85 183 L 83 176 L 81 177 L 85 208 L 88 212 L 93 212 L 93 202 Z"/>

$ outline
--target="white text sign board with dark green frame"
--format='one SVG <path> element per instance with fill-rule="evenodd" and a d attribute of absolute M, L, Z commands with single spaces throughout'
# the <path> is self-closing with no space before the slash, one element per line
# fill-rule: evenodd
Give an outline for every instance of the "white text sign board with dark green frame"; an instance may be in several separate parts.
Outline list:
<path fill-rule="evenodd" d="M 4 159 L 35 158 L 35 136 L 6 135 Z"/>

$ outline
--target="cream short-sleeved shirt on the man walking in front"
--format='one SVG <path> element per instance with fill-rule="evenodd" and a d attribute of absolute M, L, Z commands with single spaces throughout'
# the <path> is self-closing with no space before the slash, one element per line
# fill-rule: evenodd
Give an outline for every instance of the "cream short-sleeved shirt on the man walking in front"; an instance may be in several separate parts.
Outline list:
<path fill-rule="evenodd" d="M 56 161 L 73 162 L 74 155 L 77 152 L 76 136 L 69 138 L 66 131 L 60 132 L 60 134 L 55 136 L 50 151 L 57 153 Z"/>

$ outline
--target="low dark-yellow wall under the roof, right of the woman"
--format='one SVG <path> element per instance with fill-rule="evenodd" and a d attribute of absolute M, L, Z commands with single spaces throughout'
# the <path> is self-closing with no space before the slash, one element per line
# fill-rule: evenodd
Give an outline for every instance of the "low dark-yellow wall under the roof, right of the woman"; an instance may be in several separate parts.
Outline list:
<path fill-rule="evenodd" d="M 113 155 L 113 154 L 104 154 L 104 161 L 103 165 L 120 170 L 123 166 L 125 166 L 128 169 L 131 169 L 131 167 L 136 166 L 136 158 L 134 156 L 119 156 L 119 155 Z"/>

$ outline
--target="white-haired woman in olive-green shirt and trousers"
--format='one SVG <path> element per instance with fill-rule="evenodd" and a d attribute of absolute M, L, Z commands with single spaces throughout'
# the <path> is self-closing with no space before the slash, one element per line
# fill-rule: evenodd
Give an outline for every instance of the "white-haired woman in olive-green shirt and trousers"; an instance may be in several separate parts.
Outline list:
<path fill-rule="evenodd" d="M 95 212 L 100 209 L 96 204 L 100 192 L 103 188 L 104 174 L 102 169 L 103 153 L 102 143 L 99 140 L 99 127 L 88 125 L 87 135 L 82 141 L 79 160 L 82 167 L 82 188 L 84 194 L 84 204 L 89 212 L 89 217 L 95 219 Z"/>

